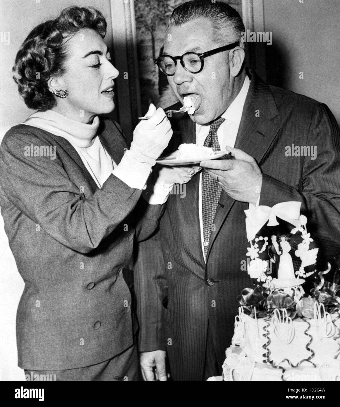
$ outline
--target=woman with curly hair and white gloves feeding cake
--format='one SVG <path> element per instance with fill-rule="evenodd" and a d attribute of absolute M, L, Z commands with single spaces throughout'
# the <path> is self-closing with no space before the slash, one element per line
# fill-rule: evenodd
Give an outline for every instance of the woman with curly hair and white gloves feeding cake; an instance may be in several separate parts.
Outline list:
<path fill-rule="evenodd" d="M 190 179 L 163 169 L 155 205 L 141 197 L 172 130 L 162 109 L 150 109 L 128 149 L 118 123 L 98 116 L 114 108 L 119 73 L 105 32 L 96 9 L 64 9 L 31 31 L 13 68 L 26 105 L 37 110 L 0 148 L 2 216 L 25 282 L 18 365 L 30 376 L 136 379 L 136 324 L 122 271 L 134 239 L 157 227 L 171 183 Z"/>

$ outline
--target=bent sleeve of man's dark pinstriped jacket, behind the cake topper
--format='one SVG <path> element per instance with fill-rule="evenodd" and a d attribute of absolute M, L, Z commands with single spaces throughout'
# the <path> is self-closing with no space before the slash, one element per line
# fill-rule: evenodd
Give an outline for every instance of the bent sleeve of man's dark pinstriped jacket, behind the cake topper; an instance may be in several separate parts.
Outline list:
<path fill-rule="evenodd" d="M 340 253 L 340 135 L 328 107 L 316 107 L 306 146 L 317 146 L 317 160 L 304 159 L 301 183 L 289 186 L 263 174 L 259 205 L 301 201 L 312 234 L 327 258 Z"/>

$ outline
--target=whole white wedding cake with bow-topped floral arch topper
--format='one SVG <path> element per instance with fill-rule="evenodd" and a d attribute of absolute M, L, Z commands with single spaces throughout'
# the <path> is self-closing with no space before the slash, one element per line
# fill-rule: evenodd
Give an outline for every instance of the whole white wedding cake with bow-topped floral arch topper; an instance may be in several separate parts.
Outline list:
<path fill-rule="evenodd" d="M 303 290 L 305 278 L 317 273 L 318 248 L 311 247 L 300 206 L 284 202 L 245 211 L 247 270 L 257 285 L 238 296 L 223 380 L 340 380 L 339 269 L 332 283 L 325 282 L 328 264 L 314 289 Z"/>

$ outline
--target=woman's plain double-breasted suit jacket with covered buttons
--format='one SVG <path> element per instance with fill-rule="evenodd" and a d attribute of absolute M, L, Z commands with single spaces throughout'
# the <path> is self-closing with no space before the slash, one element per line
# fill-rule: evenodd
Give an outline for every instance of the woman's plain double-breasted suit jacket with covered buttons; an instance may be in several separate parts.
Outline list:
<path fill-rule="evenodd" d="M 100 118 L 97 134 L 118 164 L 128 147 L 119 125 Z M 31 144 L 55 146 L 56 159 L 26 157 Z M 0 174 L 5 230 L 25 282 L 18 365 L 78 368 L 129 348 L 136 324 L 122 271 L 163 206 L 149 206 L 113 174 L 98 188 L 67 140 L 27 125 L 4 136 Z"/>

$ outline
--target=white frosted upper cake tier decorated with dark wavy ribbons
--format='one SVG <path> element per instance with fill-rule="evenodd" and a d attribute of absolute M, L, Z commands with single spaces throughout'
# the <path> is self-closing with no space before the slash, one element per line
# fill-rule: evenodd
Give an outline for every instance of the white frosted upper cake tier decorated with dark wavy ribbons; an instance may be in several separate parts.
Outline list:
<path fill-rule="evenodd" d="M 272 317 L 257 319 L 244 315 L 240 308 L 225 363 L 235 348 L 240 348 L 253 368 L 265 364 L 267 368 L 281 368 L 281 374 L 292 368 L 315 368 L 319 377 L 318 369 L 331 366 L 338 369 L 340 378 L 339 315 L 327 313 L 323 304 L 321 309 L 320 304 L 314 306 L 318 316 L 312 319 L 292 319 L 278 309 Z"/>

